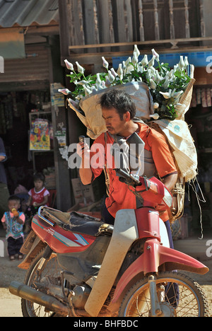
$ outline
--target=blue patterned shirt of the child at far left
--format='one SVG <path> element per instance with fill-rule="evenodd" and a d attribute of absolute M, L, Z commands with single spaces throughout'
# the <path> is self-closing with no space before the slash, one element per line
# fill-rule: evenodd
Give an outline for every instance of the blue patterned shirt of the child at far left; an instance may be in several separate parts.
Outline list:
<path fill-rule="evenodd" d="M 25 222 L 25 214 L 19 211 L 19 219 Z M 1 219 L 2 223 L 6 224 L 6 239 L 12 237 L 18 239 L 23 237 L 23 224 L 17 222 L 16 217 L 13 216 L 13 213 L 6 211 L 4 216 Z"/>

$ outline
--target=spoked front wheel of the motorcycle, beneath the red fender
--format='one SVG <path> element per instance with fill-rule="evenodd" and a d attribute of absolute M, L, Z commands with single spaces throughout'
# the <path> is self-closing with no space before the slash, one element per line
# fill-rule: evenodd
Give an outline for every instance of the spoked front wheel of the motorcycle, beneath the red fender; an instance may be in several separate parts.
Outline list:
<path fill-rule="evenodd" d="M 157 294 L 158 317 L 208 317 L 208 303 L 201 286 L 179 272 L 159 273 Z M 148 278 L 140 279 L 129 289 L 119 309 L 122 317 L 151 317 Z"/>

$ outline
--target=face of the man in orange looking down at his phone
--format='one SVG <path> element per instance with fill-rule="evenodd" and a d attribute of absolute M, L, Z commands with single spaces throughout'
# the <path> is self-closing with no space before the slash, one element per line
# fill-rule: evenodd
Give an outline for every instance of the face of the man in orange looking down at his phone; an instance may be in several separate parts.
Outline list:
<path fill-rule="evenodd" d="M 124 115 L 123 120 L 121 120 L 120 115 L 115 108 L 102 108 L 102 117 L 105 120 L 107 131 L 110 132 L 110 134 L 119 134 L 120 136 L 124 136 L 126 126 Z"/>

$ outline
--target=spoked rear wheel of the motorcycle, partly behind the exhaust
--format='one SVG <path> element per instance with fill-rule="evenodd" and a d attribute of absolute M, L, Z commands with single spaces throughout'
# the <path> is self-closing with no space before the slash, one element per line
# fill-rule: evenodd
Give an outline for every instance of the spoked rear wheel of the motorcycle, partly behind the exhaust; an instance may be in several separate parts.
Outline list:
<path fill-rule="evenodd" d="M 35 259 L 31 262 L 28 272 L 25 275 L 24 284 L 32 287 L 33 289 L 35 289 L 35 284 L 33 283 L 36 281 L 37 267 L 39 266 L 44 251 L 45 250 L 41 250 L 37 254 Z M 45 265 L 45 269 L 43 270 L 41 277 L 51 277 L 51 279 L 55 279 L 55 281 L 57 281 L 61 278 L 60 271 L 61 269 L 57 263 L 57 255 L 52 254 Z M 23 317 L 59 317 L 56 313 L 45 311 L 45 307 L 23 298 L 21 299 L 21 309 Z"/>

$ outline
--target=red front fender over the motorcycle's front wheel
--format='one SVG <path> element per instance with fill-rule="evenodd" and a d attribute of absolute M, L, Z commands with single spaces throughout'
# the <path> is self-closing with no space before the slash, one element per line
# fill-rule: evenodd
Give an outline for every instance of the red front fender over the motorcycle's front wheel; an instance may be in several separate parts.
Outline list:
<path fill-rule="evenodd" d="M 126 269 L 119 279 L 114 297 L 108 307 L 109 310 L 117 310 L 118 303 L 126 293 L 126 289 L 128 290 L 134 284 L 135 279 L 139 280 L 139 274 L 158 272 L 158 268 L 162 265 L 165 266 L 165 271 L 181 269 L 196 274 L 206 274 L 209 270 L 194 257 L 160 245 L 158 240 L 147 240 L 143 254 Z"/>

